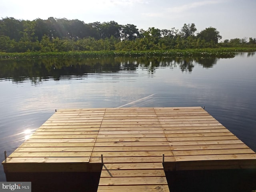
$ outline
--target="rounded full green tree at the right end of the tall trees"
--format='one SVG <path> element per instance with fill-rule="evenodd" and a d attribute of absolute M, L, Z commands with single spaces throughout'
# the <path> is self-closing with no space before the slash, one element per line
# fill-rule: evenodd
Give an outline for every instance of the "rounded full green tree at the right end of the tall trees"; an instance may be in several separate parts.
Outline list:
<path fill-rule="evenodd" d="M 218 43 L 218 40 L 222 38 L 222 36 L 220 36 L 220 32 L 213 27 L 205 28 L 197 34 L 197 37 L 204 39 L 206 42 L 214 42 L 216 44 Z"/>

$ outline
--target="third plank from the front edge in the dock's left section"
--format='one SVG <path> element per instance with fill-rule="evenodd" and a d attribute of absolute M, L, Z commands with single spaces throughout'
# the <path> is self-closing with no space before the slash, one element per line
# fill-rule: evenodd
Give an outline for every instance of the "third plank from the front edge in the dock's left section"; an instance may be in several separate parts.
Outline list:
<path fill-rule="evenodd" d="M 92 152 L 93 147 L 18 147 L 14 152 Z"/>

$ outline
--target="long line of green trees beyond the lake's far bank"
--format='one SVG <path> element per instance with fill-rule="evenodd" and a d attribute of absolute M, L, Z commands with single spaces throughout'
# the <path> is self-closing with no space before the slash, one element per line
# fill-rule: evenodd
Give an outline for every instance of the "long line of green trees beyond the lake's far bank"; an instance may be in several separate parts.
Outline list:
<path fill-rule="evenodd" d="M 133 24 L 115 21 L 84 23 L 80 20 L 53 18 L 47 20 L 0 20 L 0 52 L 63 52 L 100 50 L 170 50 L 186 48 L 256 47 L 256 38 L 230 39 L 214 27 L 197 31 L 194 23 L 178 30 L 150 27 L 138 29 Z"/>

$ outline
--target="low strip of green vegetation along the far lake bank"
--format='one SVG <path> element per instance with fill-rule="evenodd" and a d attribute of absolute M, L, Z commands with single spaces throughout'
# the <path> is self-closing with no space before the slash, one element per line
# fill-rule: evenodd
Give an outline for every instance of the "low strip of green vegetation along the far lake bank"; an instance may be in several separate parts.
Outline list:
<path fill-rule="evenodd" d="M 131 57 L 218 57 L 232 58 L 235 52 L 254 52 L 256 48 L 202 48 L 186 50 L 148 50 L 148 51 L 70 51 L 70 52 L 0 52 L 0 59 L 26 59 L 26 58 L 100 58 L 108 56 Z"/>

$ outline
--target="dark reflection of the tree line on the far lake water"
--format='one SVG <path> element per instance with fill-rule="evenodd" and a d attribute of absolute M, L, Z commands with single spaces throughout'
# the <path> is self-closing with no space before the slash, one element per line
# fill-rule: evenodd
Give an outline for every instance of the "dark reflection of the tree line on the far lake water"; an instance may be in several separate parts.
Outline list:
<path fill-rule="evenodd" d="M 163 58 L 163 57 L 105 57 L 105 58 L 41 58 L 27 60 L 1 60 L 0 79 L 13 82 L 31 81 L 38 84 L 43 80 L 60 80 L 62 77 L 79 78 L 88 73 L 136 71 L 138 68 L 154 74 L 158 67 L 179 68 L 181 72 L 192 73 L 195 64 L 211 68 L 217 58 Z"/>

